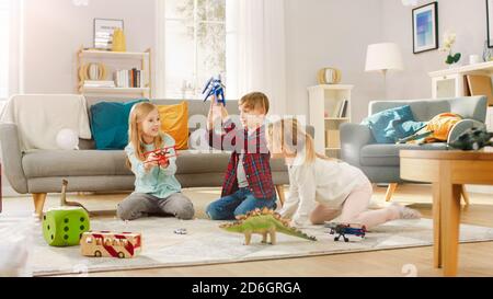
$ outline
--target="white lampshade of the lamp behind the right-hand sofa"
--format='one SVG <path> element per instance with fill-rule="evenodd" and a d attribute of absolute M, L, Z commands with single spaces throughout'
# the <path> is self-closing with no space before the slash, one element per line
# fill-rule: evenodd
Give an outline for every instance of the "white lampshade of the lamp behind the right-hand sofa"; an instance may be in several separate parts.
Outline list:
<path fill-rule="evenodd" d="M 366 53 L 366 71 L 403 70 L 401 50 L 394 43 L 372 44 Z"/>

